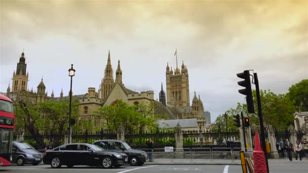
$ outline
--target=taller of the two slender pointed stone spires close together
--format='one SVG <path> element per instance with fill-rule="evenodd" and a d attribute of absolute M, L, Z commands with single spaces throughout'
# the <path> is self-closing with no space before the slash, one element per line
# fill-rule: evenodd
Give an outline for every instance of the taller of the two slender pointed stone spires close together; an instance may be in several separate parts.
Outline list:
<path fill-rule="evenodd" d="M 101 82 L 101 91 L 100 91 L 100 98 L 104 100 L 109 92 L 111 91 L 112 87 L 114 85 L 114 79 L 113 79 L 113 70 L 111 67 L 111 61 L 110 61 L 110 51 L 108 52 L 108 60 L 107 65 L 105 68 L 105 74 L 104 78 Z"/>

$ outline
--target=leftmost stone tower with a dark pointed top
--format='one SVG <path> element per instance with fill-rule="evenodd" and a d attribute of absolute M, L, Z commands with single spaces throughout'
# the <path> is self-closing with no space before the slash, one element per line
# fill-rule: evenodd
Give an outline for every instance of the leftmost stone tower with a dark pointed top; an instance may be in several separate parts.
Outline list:
<path fill-rule="evenodd" d="M 27 64 L 25 63 L 25 54 L 22 52 L 17 63 L 16 74 L 13 73 L 12 92 L 27 91 L 29 74 L 26 74 Z"/>

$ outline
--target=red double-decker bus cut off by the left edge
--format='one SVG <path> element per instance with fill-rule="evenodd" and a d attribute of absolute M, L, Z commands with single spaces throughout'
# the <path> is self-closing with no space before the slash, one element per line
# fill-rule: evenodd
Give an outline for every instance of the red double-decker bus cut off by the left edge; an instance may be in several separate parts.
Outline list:
<path fill-rule="evenodd" d="M 0 166 L 11 165 L 14 128 L 13 103 L 11 99 L 0 94 Z"/>

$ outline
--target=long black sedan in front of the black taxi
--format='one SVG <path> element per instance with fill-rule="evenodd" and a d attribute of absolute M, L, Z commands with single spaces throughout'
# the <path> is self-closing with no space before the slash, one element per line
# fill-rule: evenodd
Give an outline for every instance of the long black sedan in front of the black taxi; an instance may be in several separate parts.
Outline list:
<path fill-rule="evenodd" d="M 62 165 L 73 167 L 74 165 L 103 166 L 104 168 L 120 167 L 127 162 L 127 155 L 111 152 L 96 145 L 85 143 L 70 143 L 61 145 L 53 150 L 47 150 L 43 158 L 44 164 L 50 164 L 53 168 Z"/>

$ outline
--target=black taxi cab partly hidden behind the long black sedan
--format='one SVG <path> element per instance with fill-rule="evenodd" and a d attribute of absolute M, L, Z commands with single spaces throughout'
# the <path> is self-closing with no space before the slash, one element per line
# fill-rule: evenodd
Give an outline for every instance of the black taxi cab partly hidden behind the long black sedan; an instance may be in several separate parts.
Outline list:
<path fill-rule="evenodd" d="M 125 141 L 119 140 L 99 140 L 93 144 L 102 147 L 108 151 L 121 152 L 128 155 L 128 163 L 132 166 L 141 166 L 147 159 L 145 151 L 132 149 Z"/>

